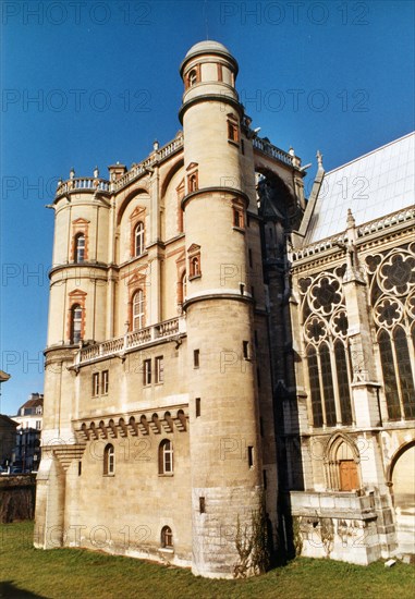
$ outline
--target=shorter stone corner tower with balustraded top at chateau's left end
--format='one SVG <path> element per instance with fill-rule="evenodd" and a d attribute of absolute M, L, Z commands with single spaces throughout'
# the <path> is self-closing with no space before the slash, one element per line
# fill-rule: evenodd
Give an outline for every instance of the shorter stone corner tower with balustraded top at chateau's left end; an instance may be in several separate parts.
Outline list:
<path fill-rule="evenodd" d="M 62 461 L 77 456 L 80 447 L 71 419 L 76 414 L 70 371 L 80 342 L 107 339 L 106 326 L 110 193 L 108 182 L 94 176 L 60 182 L 53 205 L 54 240 L 50 278 L 48 343 L 45 351 L 45 394 L 42 460 L 37 475 L 36 542 L 57 547 L 63 540 L 66 474 Z M 99 306 L 99 309 L 96 309 Z M 86 318 L 86 314 L 93 317 Z M 78 381 L 76 379 L 78 384 Z M 82 453 L 82 451 L 81 451 Z M 54 529 L 54 538 L 48 529 Z"/>

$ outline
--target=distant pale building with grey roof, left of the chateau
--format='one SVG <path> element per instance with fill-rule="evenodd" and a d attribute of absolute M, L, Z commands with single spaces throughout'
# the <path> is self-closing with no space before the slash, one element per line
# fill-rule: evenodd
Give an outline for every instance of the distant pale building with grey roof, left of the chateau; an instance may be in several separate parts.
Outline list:
<path fill-rule="evenodd" d="M 13 465 L 26 470 L 37 470 L 40 463 L 40 433 L 44 414 L 44 395 L 32 393 L 13 416 L 19 423 L 15 435 Z"/>

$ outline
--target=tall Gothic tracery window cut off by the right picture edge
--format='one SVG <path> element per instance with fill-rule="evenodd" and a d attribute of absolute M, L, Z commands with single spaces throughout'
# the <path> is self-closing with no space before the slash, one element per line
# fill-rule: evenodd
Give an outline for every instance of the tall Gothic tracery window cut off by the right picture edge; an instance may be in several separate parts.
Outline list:
<path fill-rule="evenodd" d="M 415 243 L 366 258 L 390 420 L 415 418 Z"/>

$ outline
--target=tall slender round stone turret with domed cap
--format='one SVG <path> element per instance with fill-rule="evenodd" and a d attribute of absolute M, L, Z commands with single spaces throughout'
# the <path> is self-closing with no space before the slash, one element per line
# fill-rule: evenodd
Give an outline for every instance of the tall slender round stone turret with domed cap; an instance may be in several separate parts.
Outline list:
<path fill-rule="evenodd" d="M 253 298 L 246 284 L 243 108 L 237 63 L 217 41 L 182 65 L 193 572 L 231 577 L 261 501 Z M 240 549 L 241 550 L 241 549 Z M 246 574 L 249 574 L 249 569 Z"/>

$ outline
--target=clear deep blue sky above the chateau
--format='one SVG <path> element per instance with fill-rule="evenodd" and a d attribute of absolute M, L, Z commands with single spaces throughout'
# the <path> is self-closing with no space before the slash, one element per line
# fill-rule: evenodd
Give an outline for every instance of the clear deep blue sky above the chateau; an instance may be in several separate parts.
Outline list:
<path fill-rule="evenodd" d="M 414 2 L 0 2 L 0 413 L 42 391 L 57 180 L 144 159 L 180 123 L 179 65 L 207 36 L 240 63 L 253 126 L 326 170 L 414 129 Z"/>

